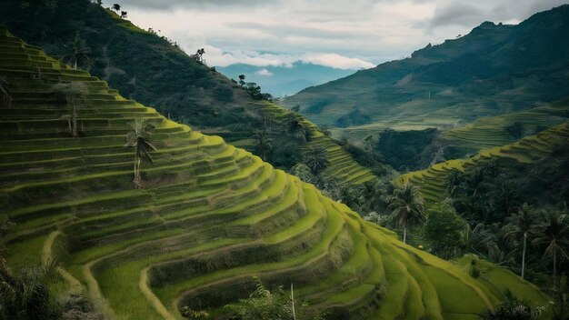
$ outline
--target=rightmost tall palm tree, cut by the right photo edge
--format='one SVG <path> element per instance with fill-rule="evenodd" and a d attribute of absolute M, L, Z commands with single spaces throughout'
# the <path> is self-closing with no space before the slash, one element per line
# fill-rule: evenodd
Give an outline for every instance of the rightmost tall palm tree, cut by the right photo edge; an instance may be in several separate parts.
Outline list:
<path fill-rule="evenodd" d="M 545 248 L 544 256 L 553 257 L 554 259 L 554 291 L 557 289 L 557 255 L 561 258 L 569 258 L 565 247 L 569 245 L 569 225 L 567 225 L 565 218 L 567 215 L 559 212 L 549 212 L 545 215 L 544 225 L 539 237 L 535 238 L 534 244 L 547 245 Z"/>

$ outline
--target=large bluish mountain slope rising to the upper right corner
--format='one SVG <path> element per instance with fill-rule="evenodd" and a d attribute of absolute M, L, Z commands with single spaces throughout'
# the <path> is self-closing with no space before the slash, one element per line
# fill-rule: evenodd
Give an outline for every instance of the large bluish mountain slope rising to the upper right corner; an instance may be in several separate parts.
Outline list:
<path fill-rule="evenodd" d="M 569 5 L 310 87 L 285 100 L 318 125 L 350 130 L 452 127 L 569 95 Z"/>

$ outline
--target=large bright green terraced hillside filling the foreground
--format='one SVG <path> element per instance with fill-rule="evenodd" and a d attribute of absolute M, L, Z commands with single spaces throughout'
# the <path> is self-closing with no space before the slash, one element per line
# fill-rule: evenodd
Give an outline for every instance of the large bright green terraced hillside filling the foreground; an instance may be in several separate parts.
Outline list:
<path fill-rule="evenodd" d="M 14 270 L 55 258 L 64 291 L 85 292 L 116 319 L 178 319 L 190 305 L 224 318 L 251 277 L 294 282 L 314 309 L 353 319 L 475 319 L 514 295 L 548 298 L 511 272 L 473 257 L 453 265 L 408 245 L 313 185 L 255 155 L 178 125 L 105 82 L 0 32 L 0 213 Z M 50 88 L 83 82 L 80 137 Z M 153 125 L 155 164 L 132 185 L 128 123 Z M 62 248 L 67 248 L 65 254 Z"/>

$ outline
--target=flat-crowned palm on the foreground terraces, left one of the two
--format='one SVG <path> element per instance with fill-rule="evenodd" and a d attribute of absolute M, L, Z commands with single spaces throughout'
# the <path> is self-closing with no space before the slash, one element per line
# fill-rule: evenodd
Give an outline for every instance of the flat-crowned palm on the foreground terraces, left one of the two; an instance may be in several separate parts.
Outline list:
<path fill-rule="evenodd" d="M 55 93 L 69 106 L 69 129 L 71 135 L 78 136 L 77 130 L 77 109 L 85 105 L 85 95 L 89 93 L 89 87 L 85 82 L 74 81 L 70 83 L 58 83 L 52 85 L 50 92 Z"/>

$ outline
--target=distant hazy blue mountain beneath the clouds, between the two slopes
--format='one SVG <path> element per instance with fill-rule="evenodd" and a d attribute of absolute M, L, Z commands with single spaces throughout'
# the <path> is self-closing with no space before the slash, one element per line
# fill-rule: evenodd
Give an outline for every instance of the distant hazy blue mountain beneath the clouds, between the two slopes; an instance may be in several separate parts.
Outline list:
<path fill-rule="evenodd" d="M 228 65 L 215 67 L 220 73 L 261 85 L 264 92 L 274 96 L 294 95 L 308 86 L 322 85 L 328 81 L 351 75 L 354 70 L 335 69 L 324 65 L 295 62 L 290 66 Z"/>

